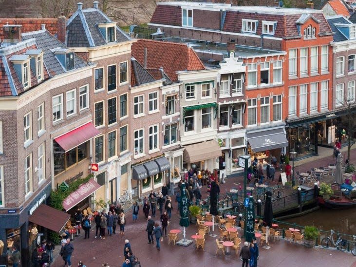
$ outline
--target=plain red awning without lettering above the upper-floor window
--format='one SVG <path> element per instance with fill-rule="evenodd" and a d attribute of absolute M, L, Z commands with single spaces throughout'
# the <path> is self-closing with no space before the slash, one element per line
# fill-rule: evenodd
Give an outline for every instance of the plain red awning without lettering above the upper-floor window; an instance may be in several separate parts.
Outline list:
<path fill-rule="evenodd" d="M 67 152 L 98 134 L 100 134 L 100 132 L 95 128 L 94 124 L 88 122 L 87 124 L 75 128 L 71 132 L 58 136 L 55 140 L 58 145 Z"/>

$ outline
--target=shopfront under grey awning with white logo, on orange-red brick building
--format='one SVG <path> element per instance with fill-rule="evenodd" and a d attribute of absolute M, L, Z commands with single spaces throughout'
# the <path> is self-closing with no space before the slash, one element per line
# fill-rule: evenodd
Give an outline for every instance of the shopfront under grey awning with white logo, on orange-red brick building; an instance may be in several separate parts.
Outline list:
<path fill-rule="evenodd" d="M 280 158 L 288 146 L 284 125 L 265 129 L 247 130 L 247 152 L 251 159 L 255 157 L 262 165 L 270 163 L 272 157 Z"/>

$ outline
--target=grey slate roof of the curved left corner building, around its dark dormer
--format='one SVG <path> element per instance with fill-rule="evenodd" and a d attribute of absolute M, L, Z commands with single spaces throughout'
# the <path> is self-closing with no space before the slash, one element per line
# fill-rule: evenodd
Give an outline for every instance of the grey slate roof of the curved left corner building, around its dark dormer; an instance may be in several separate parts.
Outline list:
<path fill-rule="evenodd" d="M 51 51 L 51 49 L 55 49 L 58 47 L 64 49 L 67 48 L 64 44 L 62 44 L 56 37 L 51 35 L 47 30 L 40 30 L 36 32 L 22 34 L 22 40 L 27 40 L 30 38 L 36 38 L 37 48 L 43 50 L 43 61 L 50 76 L 55 76 L 66 72 L 57 60 L 55 54 Z M 80 57 L 76 57 L 74 55 L 75 69 L 82 68 L 85 66 L 88 66 L 88 63 L 83 61 Z"/>

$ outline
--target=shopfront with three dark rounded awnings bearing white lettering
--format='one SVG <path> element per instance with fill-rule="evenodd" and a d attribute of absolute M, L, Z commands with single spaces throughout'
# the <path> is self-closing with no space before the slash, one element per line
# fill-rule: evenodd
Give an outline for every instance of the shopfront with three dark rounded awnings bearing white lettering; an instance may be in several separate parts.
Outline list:
<path fill-rule="evenodd" d="M 159 157 L 132 167 L 132 179 L 140 188 L 139 196 L 162 188 L 166 174 L 169 175 L 170 163 L 166 157 Z"/>

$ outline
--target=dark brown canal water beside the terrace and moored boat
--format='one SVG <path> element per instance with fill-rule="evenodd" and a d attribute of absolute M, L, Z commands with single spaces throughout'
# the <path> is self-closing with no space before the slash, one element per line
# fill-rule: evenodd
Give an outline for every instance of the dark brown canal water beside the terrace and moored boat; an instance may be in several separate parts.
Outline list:
<path fill-rule="evenodd" d="M 339 233 L 356 235 L 356 209 L 329 210 L 321 207 L 320 210 L 308 213 L 300 217 L 283 220 L 288 223 L 296 223 L 300 226 L 314 225 L 321 230 L 331 229 Z"/>

